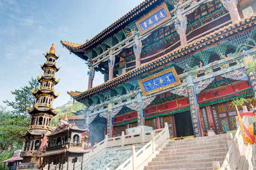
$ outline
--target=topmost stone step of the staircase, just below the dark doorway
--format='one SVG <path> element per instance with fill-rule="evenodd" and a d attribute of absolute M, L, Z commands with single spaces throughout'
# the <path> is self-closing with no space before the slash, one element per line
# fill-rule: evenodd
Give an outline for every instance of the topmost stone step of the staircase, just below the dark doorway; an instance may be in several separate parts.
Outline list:
<path fill-rule="evenodd" d="M 216 135 L 217 136 L 217 135 Z M 211 136 L 209 136 L 211 137 Z M 189 139 L 184 139 L 184 140 L 179 140 L 179 141 L 169 141 L 169 144 L 166 145 L 166 147 L 171 147 L 171 146 L 180 146 L 180 145 L 187 145 L 187 144 L 206 144 L 210 142 L 219 142 L 219 141 L 227 141 L 228 138 L 225 136 L 218 137 L 216 139 L 204 139 L 206 137 L 202 137 L 202 140 L 195 140 L 191 141 Z M 196 138 L 195 138 L 196 139 Z"/>

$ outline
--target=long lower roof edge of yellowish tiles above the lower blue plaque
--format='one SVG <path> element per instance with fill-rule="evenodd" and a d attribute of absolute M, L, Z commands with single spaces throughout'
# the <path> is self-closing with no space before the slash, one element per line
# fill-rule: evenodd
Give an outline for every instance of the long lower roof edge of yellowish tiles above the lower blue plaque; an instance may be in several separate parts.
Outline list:
<path fill-rule="evenodd" d="M 81 96 L 83 96 L 83 95 L 89 96 L 89 95 L 95 94 L 95 91 L 96 91 L 96 90 L 98 90 L 98 91 L 103 91 L 103 90 L 105 90 L 106 88 L 109 88 L 109 87 L 111 87 L 111 86 L 113 86 L 113 85 L 117 85 L 117 84 L 119 84 L 119 83 L 121 83 L 121 82 L 124 82 L 124 81 L 127 80 L 127 78 L 129 77 L 129 76 L 128 76 L 129 74 L 132 74 L 131 77 L 138 76 L 139 74 L 142 74 L 142 73 L 143 73 L 143 70 L 145 70 L 145 69 L 148 70 L 148 68 L 154 68 L 154 67 L 155 67 L 155 66 L 154 66 L 154 63 L 155 63 L 155 64 L 156 64 L 157 62 L 164 63 L 165 61 L 163 61 L 163 60 L 166 60 L 166 57 L 169 57 L 169 55 L 171 55 L 171 54 L 175 54 L 175 58 L 177 59 L 177 56 L 176 56 L 176 55 L 178 55 L 179 53 L 182 53 L 182 54 L 184 55 L 185 53 L 187 53 L 186 49 L 189 49 L 189 47 L 194 47 L 194 46 L 196 46 L 196 45 L 197 45 L 198 43 L 200 43 L 200 42 L 204 42 L 204 44 L 206 44 L 206 43 L 208 43 L 208 42 L 210 42 L 210 41 L 214 41 L 214 39 L 217 38 L 217 35 L 219 35 L 218 33 L 220 33 L 221 31 L 224 31 L 224 32 L 225 32 L 224 34 L 220 34 L 220 35 L 219 35 L 219 36 L 222 36 L 222 37 L 223 37 L 223 35 L 226 35 L 226 34 L 228 34 L 228 33 L 233 34 L 233 32 L 234 32 L 235 30 L 232 30 L 231 28 L 239 29 L 239 28 L 236 28 L 236 25 L 239 25 L 240 27 L 241 27 L 241 24 L 240 24 L 240 23 L 242 23 L 242 25 L 247 25 L 247 24 L 245 23 L 245 21 L 247 21 L 247 23 L 248 23 L 248 22 L 250 22 L 249 19 L 251 19 L 251 23 L 252 23 L 252 22 L 255 22 L 255 21 L 256 21 L 256 18 L 255 18 L 255 17 L 256 17 L 256 13 L 251 14 L 251 15 L 249 15 L 248 17 L 244 17 L 244 18 L 241 19 L 241 20 L 238 20 L 238 21 L 236 21 L 236 22 L 234 22 L 234 23 L 231 23 L 231 24 L 229 24 L 229 25 L 227 25 L 227 26 L 224 26 L 223 28 L 220 28 L 220 29 L 218 29 L 218 30 L 216 30 L 216 31 L 213 31 L 212 33 L 207 34 L 207 35 L 205 35 L 204 37 L 200 37 L 200 38 L 198 38 L 198 39 L 196 39 L 196 40 L 194 40 L 194 41 L 192 41 L 192 42 L 189 42 L 189 43 L 187 43 L 186 45 L 181 46 L 180 48 L 176 48 L 176 49 L 174 49 L 173 51 L 171 51 L 171 52 L 169 52 L 169 53 L 167 53 L 167 54 L 164 54 L 164 55 L 161 56 L 161 57 L 158 57 L 158 58 L 156 58 L 156 59 L 153 59 L 153 60 L 151 60 L 150 62 L 146 62 L 146 63 L 140 65 L 140 66 L 137 67 L 137 68 L 134 68 L 134 69 L 132 69 L 132 70 L 130 70 L 130 71 L 124 73 L 124 74 L 121 74 L 121 75 L 118 76 L 118 77 L 115 77 L 115 78 L 113 78 L 113 79 L 111 79 L 111 80 L 108 80 L 107 82 L 102 83 L 101 85 L 97 85 L 97 86 L 95 86 L 95 87 L 93 87 L 93 88 L 90 88 L 90 89 L 88 89 L 88 90 L 86 90 L 86 91 L 83 91 L 83 92 L 81 92 L 81 93 L 77 93 L 77 92 L 74 92 L 74 91 L 70 91 L 70 92 L 67 92 L 67 94 L 70 94 L 71 97 L 74 97 L 75 99 L 78 99 L 78 98 L 81 98 Z M 254 20 L 254 21 L 253 21 L 253 20 Z M 251 24 L 248 24 L 248 25 L 250 25 L 250 27 L 252 27 Z M 228 28 L 230 28 L 231 31 L 230 31 Z M 226 29 L 229 30 L 230 32 L 227 32 Z M 210 37 L 212 37 L 212 38 L 210 38 Z M 206 41 L 207 41 L 207 42 L 206 42 Z M 197 49 L 198 49 L 198 48 L 197 48 Z M 193 48 L 192 50 L 195 50 L 195 48 Z M 185 53 L 184 53 L 183 51 L 185 51 Z M 191 51 L 191 50 L 189 50 L 189 51 Z M 174 58 L 174 57 L 172 57 L 172 58 Z M 169 59 L 169 61 L 171 61 L 171 59 Z M 152 65 L 151 65 L 151 64 L 152 64 Z M 112 84 L 112 85 L 111 85 L 111 84 Z M 104 85 L 105 85 L 106 87 L 104 87 Z M 79 99 L 78 99 L 78 100 L 79 100 Z"/>

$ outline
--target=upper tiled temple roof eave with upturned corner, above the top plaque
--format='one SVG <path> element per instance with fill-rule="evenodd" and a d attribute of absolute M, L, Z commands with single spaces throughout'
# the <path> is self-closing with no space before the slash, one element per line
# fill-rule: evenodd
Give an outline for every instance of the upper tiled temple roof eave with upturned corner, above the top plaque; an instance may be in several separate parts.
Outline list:
<path fill-rule="evenodd" d="M 131 18 L 135 17 L 136 15 L 142 15 L 142 13 L 140 12 L 142 12 L 143 10 L 149 11 L 151 10 L 151 8 L 154 7 L 153 5 L 157 5 L 161 2 L 163 2 L 163 0 L 144 0 L 142 3 L 135 6 L 133 9 L 131 9 L 118 20 L 116 20 L 114 23 L 112 23 L 110 26 L 108 26 L 99 34 L 97 34 L 90 40 L 87 40 L 83 44 L 72 43 L 68 41 L 61 41 L 61 44 L 64 45 L 66 48 L 72 48 L 75 51 L 83 51 L 87 48 L 90 48 L 90 46 L 94 45 L 99 40 L 108 38 L 110 34 L 113 34 L 113 32 L 119 31 L 118 28 L 120 26 L 127 25 L 129 23 L 127 21 L 132 21 Z"/>

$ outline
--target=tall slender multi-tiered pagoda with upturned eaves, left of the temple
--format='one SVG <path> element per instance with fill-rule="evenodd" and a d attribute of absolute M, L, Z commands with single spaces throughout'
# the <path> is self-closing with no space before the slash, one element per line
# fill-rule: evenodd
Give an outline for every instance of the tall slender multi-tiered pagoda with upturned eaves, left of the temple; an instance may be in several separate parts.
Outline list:
<path fill-rule="evenodd" d="M 52 44 L 50 51 L 43 54 L 47 61 L 44 65 L 40 65 L 44 74 L 41 73 L 41 78 L 37 79 L 41 83 L 38 91 L 32 89 L 32 94 L 36 98 L 33 109 L 29 109 L 29 114 L 32 116 L 29 130 L 23 135 L 24 142 L 20 157 L 23 158 L 23 163 L 19 165 L 19 169 L 38 170 L 42 164 L 41 148 L 47 143 L 48 133 L 52 131 L 52 119 L 57 113 L 53 113 L 52 103 L 58 94 L 54 92 L 54 86 L 58 84 L 60 79 L 55 78 L 55 73 L 60 69 L 56 67 L 56 60 L 59 55 L 55 55 L 55 46 Z"/>

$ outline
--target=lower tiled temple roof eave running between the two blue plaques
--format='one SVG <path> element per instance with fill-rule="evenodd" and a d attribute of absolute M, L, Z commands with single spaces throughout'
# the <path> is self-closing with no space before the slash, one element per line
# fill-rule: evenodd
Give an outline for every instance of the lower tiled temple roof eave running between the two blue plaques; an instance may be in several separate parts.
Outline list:
<path fill-rule="evenodd" d="M 183 45 L 180 48 L 176 48 L 173 51 L 167 54 L 164 54 L 161 57 L 153 59 L 150 62 L 146 62 L 137 68 L 134 68 L 118 77 L 108 80 L 107 82 L 102 83 L 101 85 L 98 85 L 96 87 L 90 88 L 84 92 L 78 93 L 78 92 L 70 91 L 70 92 L 67 92 L 67 94 L 70 94 L 70 96 L 72 96 L 74 99 L 76 99 L 77 101 L 80 101 L 81 99 L 84 99 L 88 96 L 92 96 L 96 93 L 99 93 L 100 91 L 104 91 L 105 89 L 111 88 L 115 85 L 122 84 L 128 79 L 140 76 L 145 72 L 155 69 L 156 67 L 160 67 L 161 65 L 172 62 L 174 59 L 186 56 L 192 53 L 193 51 L 198 51 L 200 48 L 206 47 L 211 42 L 216 43 L 220 40 L 223 40 L 224 37 L 232 35 L 236 31 L 241 31 L 246 28 L 248 29 L 252 27 L 251 23 L 256 21 L 255 17 L 256 17 L 256 13 L 251 14 L 248 17 L 245 17 L 241 20 L 238 20 L 227 26 L 224 26 L 223 28 L 220 28 L 210 34 L 207 34 L 204 37 L 200 37 L 197 40 L 189 42 L 188 44 Z"/>

